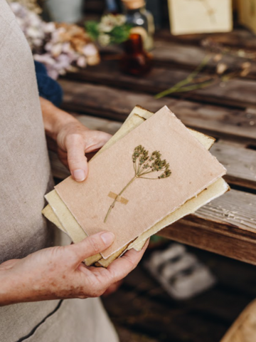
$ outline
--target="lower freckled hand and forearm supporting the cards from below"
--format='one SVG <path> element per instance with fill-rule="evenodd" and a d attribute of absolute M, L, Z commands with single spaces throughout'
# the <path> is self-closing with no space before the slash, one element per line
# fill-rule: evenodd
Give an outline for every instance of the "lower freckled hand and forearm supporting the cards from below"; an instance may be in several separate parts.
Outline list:
<path fill-rule="evenodd" d="M 0 305 L 100 296 L 137 266 L 146 249 L 130 250 L 107 269 L 82 263 L 110 247 L 113 239 L 112 233 L 101 232 L 78 244 L 50 247 L 4 262 L 0 265 Z"/>

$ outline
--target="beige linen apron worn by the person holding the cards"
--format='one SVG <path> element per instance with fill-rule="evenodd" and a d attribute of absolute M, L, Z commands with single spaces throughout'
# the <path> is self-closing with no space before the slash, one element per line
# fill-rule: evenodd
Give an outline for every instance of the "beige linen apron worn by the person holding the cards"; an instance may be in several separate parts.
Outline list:
<path fill-rule="evenodd" d="M 0 0 L 0 263 L 55 244 L 41 215 L 52 187 L 33 58 Z M 115 342 L 98 299 L 0 308 L 1 342 Z"/>

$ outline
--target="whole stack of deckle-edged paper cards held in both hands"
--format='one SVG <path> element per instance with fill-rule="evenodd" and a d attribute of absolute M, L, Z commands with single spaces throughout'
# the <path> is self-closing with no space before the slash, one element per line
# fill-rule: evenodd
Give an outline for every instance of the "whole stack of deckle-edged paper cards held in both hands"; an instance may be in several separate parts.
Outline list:
<path fill-rule="evenodd" d="M 214 139 L 189 130 L 169 108 L 137 106 L 90 161 L 82 183 L 68 177 L 46 195 L 43 214 L 73 242 L 103 230 L 111 247 L 85 260 L 108 266 L 127 249 L 228 191 L 225 168 L 208 152 Z"/>

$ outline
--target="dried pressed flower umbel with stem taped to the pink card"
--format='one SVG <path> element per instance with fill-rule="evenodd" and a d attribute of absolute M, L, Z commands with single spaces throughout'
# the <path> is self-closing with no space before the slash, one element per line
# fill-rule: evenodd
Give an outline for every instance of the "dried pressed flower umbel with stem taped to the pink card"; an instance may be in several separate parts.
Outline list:
<path fill-rule="evenodd" d="M 154 151 L 149 155 L 149 151 L 145 149 L 142 145 L 134 148 L 132 154 L 132 162 L 134 166 L 134 177 L 130 180 L 127 185 L 122 189 L 117 197 L 114 199 L 108 212 L 105 216 L 104 222 L 107 222 L 107 218 L 110 215 L 111 210 L 114 208 L 114 204 L 117 202 L 117 198 L 122 195 L 122 193 L 127 190 L 127 187 L 134 182 L 137 178 L 142 178 L 144 180 L 161 180 L 171 176 L 171 170 L 169 169 L 169 162 L 166 160 L 161 160 L 161 153 L 159 151 Z M 157 177 L 150 177 L 151 173 L 157 172 Z"/>

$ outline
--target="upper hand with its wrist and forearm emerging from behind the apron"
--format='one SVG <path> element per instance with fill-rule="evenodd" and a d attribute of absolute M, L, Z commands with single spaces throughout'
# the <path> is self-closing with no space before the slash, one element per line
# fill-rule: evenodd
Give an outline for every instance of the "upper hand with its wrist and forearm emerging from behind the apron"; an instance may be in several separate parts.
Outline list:
<path fill-rule="evenodd" d="M 85 153 L 99 150 L 111 135 L 89 130 L 73 115 L 55 107 L 45 98 L 40 98 L 40 102 L 46 135 L 55 140 L 60 161 L 69 167 L 73 178 L 82 182 L 88 174 Z"/>

